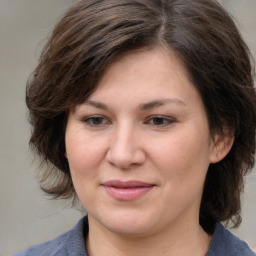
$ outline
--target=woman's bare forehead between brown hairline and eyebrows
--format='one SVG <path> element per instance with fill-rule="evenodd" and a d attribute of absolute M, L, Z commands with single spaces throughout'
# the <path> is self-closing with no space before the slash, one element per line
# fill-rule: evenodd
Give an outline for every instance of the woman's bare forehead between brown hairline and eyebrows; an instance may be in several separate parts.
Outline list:
<path fill-rule="evenodd" d="M 132 95 L 143 102 L 166 95 L 189 97 L 194 90 L 179 57 L 172 50 L 154 47 L 120 56 L 108 67 L 89 100 L 116 101 L 117 95 L 126 100 L 125 96 Z"/>

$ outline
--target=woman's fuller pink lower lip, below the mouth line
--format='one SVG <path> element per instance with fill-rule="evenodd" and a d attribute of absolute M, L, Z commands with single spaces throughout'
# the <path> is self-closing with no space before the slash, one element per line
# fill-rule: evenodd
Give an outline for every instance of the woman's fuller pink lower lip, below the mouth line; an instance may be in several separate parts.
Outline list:
<path fill-rule="evenodd" d="M 139 199 L 147 194 L 154 186 L 136 188 L 116 188 L 104 186 L 106 192 L 113 198 L 122 201 Z"/>

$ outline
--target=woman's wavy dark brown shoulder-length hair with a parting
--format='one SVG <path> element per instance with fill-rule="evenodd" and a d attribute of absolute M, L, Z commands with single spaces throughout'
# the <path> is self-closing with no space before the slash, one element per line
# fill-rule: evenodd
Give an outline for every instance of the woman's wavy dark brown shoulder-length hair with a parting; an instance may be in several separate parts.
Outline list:
<path fill-rule="evenodd" d="M 96 89 L 121 54 L 164 44 L 174 50 L 198 89 L 211 132 L 229 127 L 234 145 L 209 167 L 200 224 L 240 223 L 243 176 L 254 165 L 256 95 L 249 50 L 214 0 L 81 0 L 56 25 L 27 85 L 30 145 L 40 155 L 41 187 L 54 198 L 75 198 L 65 158 L 70 108 Z"/>

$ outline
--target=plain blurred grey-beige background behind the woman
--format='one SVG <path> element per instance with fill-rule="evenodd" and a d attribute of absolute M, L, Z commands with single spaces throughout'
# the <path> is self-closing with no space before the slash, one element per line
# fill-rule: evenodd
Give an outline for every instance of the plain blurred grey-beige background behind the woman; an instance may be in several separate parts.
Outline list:
<path fill-rule="evenodd" d="M 54 24 L 75 0 L 0 0 L 0 256 L 54 238 L 83 215 L 49 201 L 28 148 L 25 84 Z M 256 56 L 256 0 L 220 1 Z M 243 223 L 236 233 L 256 249 L 256 175 L 246 179 Z"/>

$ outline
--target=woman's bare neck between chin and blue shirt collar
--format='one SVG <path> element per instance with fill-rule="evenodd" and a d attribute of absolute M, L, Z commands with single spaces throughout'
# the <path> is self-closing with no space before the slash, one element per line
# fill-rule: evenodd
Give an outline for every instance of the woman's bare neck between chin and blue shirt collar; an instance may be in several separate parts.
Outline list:
<path fill-rule="evenodd" d="M 199 223 L 173 227 L 147 236 L 120 235 L 89 218 L 86 248 L 90 256 L 178 256 L 207 254 L 211 236 Z"/>

